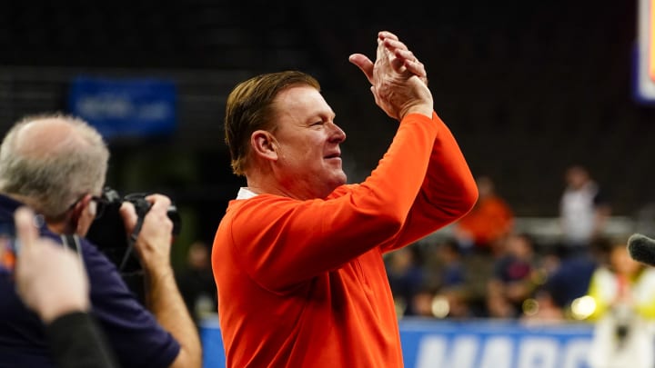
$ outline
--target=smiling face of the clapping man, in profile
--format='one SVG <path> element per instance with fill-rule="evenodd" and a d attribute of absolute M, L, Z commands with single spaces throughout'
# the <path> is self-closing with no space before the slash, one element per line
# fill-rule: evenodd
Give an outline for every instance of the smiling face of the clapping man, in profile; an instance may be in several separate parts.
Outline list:
<path fill-rule="evenodd" d="M 298 199 L 325 198 L 346 184 L 339 144 L 346 134 L 335 114 L 313 87 L 290 87 L 275 99 L 278 184 Z"/>

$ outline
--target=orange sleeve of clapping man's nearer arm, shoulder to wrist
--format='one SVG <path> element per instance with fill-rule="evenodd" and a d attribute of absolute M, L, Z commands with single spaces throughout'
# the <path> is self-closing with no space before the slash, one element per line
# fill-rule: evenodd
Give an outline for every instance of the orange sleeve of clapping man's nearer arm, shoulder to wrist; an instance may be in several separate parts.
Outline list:
<path fill-rule="evenodd" d="M 229 229 L 219 226 L 215 242 L 234 244 L 241 266 L 270 290 L 337 269 L 398 234 L 425 182 L 439 129 L 427 116 L 409 114 L 367 180 L 325 200 L 260 194 L 235 201 L 226 214 L 232 221 L 221 224 Z"/>

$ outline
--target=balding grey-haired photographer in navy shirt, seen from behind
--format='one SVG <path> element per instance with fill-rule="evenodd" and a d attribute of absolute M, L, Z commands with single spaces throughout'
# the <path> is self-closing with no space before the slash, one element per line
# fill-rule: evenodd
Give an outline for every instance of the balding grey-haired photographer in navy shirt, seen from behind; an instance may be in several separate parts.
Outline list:
<path fill-rule="evenodd" d="M 143 307 L 121 275 L 84 236 L 96 216 L 109 153 L 85 122 L 63 115 L 26 118 L 0 146 L 0 220 L 23 204 L 45 218 L 41 235 L 79 254 L 89 280 L 91 312 L 122 367 L 199 367 L 201 346 L 170 265 L 173 224 L 164 195 L 146 198 L 151 208 L 135 249 L 146 276 Z M 131 234 L 135 208 L 121 207 Z M 78 236 L 79 235 L 79 236 Z M 67 240 L 65 242 L 65 240 Z M 53 366 L 41 321 L 15 292 L 13 275 L 0 274 L 0 366 Z"/>

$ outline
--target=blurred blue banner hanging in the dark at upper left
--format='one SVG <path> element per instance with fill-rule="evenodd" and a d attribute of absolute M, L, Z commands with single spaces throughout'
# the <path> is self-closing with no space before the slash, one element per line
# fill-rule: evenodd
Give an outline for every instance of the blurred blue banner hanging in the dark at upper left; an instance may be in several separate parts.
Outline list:
<path fill-rule="evenodd" d="M 176 85 L 158 79 L 80 76 L 68 94 L 69 111 L 106 139 L 171 134 L 176 128 Z"/>

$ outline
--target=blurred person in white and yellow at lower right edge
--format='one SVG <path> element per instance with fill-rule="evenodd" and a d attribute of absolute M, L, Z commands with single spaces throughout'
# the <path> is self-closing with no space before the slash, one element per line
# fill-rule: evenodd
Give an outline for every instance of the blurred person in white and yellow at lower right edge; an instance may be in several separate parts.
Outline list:
<path fill-rule="evenodd" d="M 630 258 L 624 240 L 611 244 L 609 264 L 593 274 L 589 320 L 596 323 L 589 349 L 592 368 L 655 365 L 655 269 Z"/>

